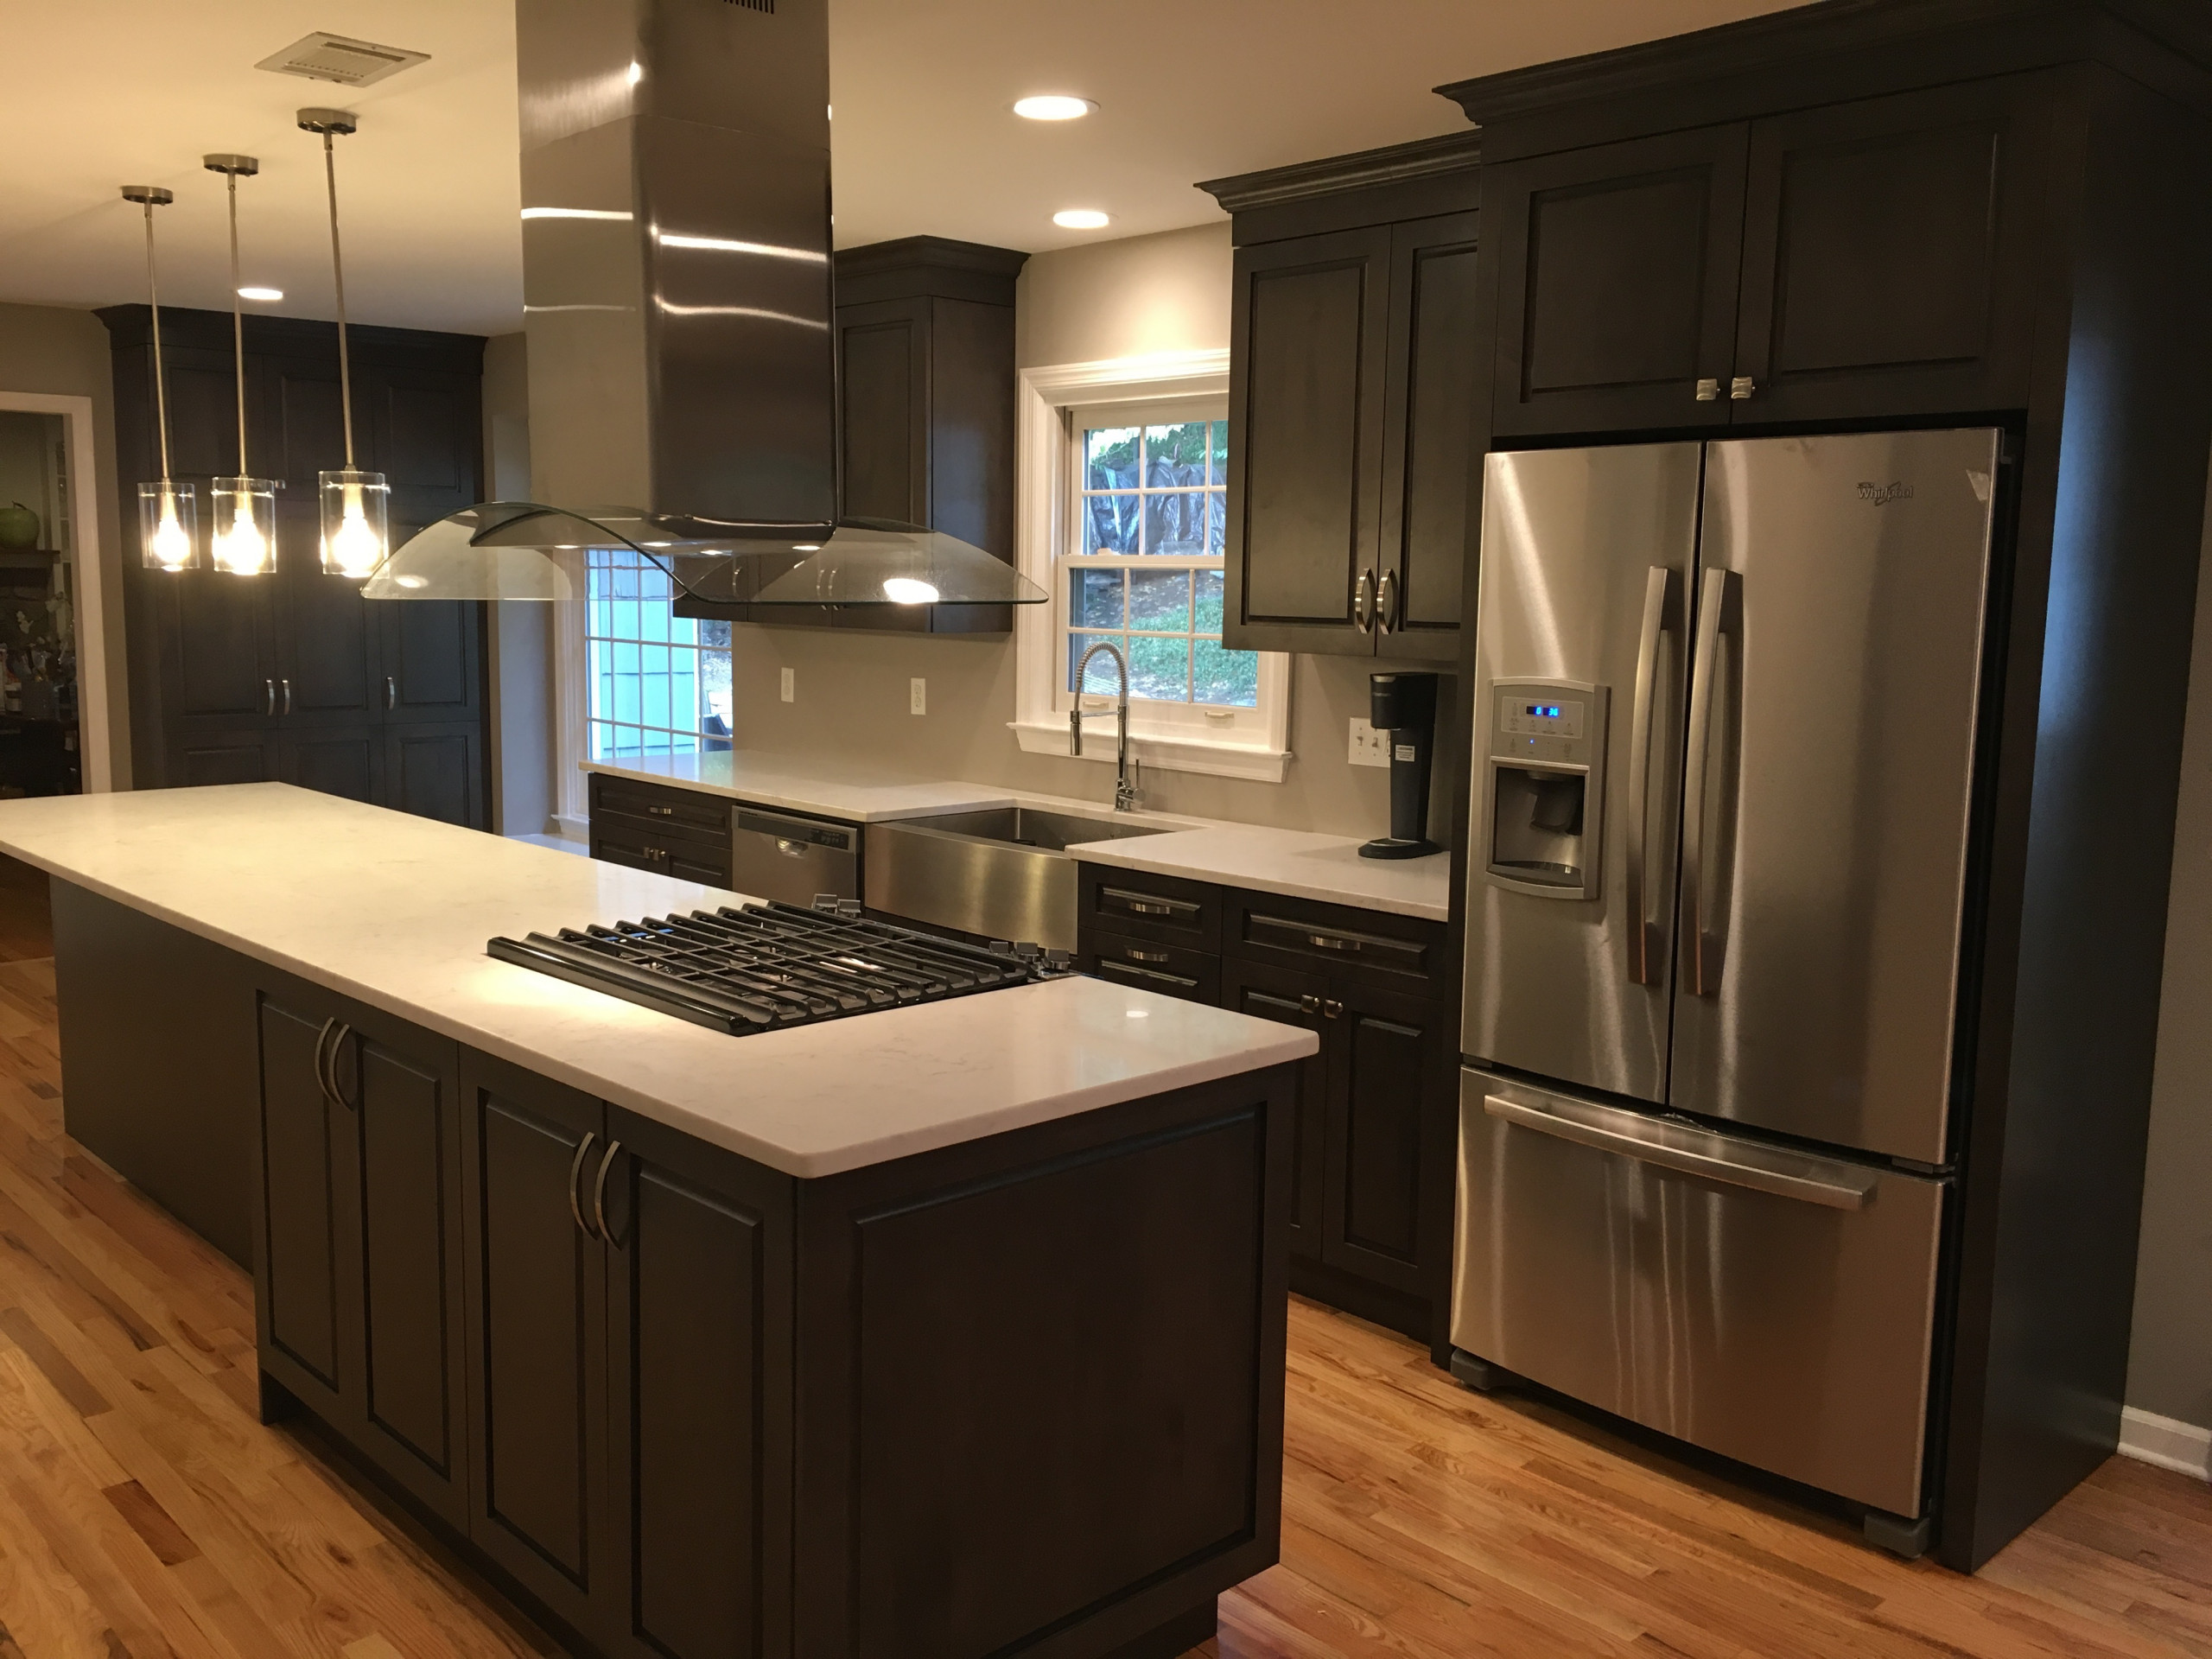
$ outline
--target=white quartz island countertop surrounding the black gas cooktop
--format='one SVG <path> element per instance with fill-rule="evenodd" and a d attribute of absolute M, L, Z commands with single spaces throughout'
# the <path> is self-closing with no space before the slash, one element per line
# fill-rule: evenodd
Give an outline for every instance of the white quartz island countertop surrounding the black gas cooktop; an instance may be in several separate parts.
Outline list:
<path fill-rule="evenodd" d="M 730 1037 L 484 956 L 732 894 L 243 783 L 0 801 L 0 852 L 785 1175 L 1303 1060 L 1294 1026 L 1088 978 Z"/>

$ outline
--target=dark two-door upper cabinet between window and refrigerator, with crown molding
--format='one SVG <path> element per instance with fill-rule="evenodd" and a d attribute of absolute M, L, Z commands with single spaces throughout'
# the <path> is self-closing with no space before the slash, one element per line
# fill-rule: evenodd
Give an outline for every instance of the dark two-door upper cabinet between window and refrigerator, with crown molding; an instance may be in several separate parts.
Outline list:
<path fill-rule="evenodd" d="M 1458 655 L 1473 135 L 1217 179 L 1234 215 L 1232 650 Z"/>

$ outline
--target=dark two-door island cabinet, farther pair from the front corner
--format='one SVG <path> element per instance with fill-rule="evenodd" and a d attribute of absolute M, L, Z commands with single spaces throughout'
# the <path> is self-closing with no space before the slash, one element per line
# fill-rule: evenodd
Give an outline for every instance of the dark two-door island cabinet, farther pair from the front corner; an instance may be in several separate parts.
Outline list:
<path fill-rule="evenodd" d="M 257 1312 L 263 1371 L 460 1524 L 458 1048 L 265 980 Z"/>

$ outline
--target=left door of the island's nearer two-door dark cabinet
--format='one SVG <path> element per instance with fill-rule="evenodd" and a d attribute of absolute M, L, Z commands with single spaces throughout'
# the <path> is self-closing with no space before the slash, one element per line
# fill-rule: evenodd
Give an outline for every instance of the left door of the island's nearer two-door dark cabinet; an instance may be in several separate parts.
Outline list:
<path fill-rule="evenodd" d="M 606 1252 L 577 1188 L 599 1102 L 462 1055 L 469 1537 L 553 1613 L 593 1628 L 606 1559 Z"/>

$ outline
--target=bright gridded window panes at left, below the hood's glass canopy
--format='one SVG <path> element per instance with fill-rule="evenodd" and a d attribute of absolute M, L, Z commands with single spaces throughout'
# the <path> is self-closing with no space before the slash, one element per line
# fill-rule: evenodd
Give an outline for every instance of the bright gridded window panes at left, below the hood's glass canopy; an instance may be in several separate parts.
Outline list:
<path fill-rule="evenodd" d="M 595 761 L 730 748 L 730 624 L 675 615 L 668 573 L 635 549 L 591 549 L 584 602 Z"/>

